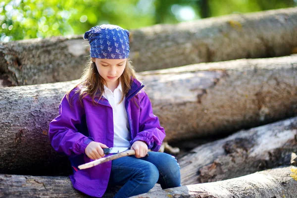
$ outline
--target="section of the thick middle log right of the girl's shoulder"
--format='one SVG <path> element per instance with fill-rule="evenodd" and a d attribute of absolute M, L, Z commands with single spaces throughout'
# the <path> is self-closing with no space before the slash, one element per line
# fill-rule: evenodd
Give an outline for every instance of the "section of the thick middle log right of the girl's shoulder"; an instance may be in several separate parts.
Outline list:
<path fill-rule="evenodd" d="M 140 74 L 168 142 L 230 134 L 297 115 L 297 56 Z"/>

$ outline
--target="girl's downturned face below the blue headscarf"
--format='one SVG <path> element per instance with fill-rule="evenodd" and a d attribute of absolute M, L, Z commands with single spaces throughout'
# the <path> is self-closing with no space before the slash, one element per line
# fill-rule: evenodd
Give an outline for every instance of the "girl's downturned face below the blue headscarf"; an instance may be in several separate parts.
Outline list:
<path fill-rule="evenodd" d="M 95 59 L 95 60 L 94 60 Z M 115 89 L 119 85 L 119 77 L 126 67 L 125 59 L 102 59 L 94 58 L 100 76 L 105 80 L 107 87 Z"/>

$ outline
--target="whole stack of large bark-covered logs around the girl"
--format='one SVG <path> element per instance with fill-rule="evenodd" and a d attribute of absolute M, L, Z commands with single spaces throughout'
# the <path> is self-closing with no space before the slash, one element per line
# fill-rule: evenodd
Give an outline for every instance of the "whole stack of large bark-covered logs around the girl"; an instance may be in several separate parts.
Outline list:
<path fill-rule="evenodd" d="M 130 40 L 165 141 L 223 137 L 178 159 L 183 187 L 140 197 L 296 196 L 297 8 L 156 25 Z M 48 127 L 87 44 L 81 36 L 0 44 L 0 196 L 86 197 L 65 176 L 68 159 L 51 148 Z"/>

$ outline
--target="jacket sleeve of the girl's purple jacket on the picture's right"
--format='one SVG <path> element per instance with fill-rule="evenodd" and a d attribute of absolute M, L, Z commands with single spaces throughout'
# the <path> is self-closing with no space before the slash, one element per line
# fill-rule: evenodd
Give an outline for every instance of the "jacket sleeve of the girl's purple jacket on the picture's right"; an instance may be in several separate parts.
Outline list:
<path fill-rule="evenodd" d="M 131 141 L 131 144 L 136 141 L 144 141 L 149 149 L 158 151 L 165 138 L 165 131 L 160 126 L 158 117 L 152 112 L 147 93 L 143 92 L 142 94 L 144 94 L 144 97 L 140 101 L 139 133 Z"/>

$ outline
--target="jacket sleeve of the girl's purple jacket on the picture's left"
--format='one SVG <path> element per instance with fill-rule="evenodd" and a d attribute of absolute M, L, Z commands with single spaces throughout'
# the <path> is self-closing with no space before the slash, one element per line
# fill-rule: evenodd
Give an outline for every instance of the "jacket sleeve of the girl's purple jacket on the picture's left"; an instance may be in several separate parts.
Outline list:
<path fill-rule="evenodd" d="M 69 100 L 74 95 L 72 90 Z M 79 133 L 75 125 L 81 123 L 81 117 L 85 113 L 77 94 L 75 94 L 70 107 L 66 96 L 59 105 L 59 116 L 49 123 L 49 140 L 51 146 L 58 152 L 67 155 L 85 153 L 85 148 L 93 140 Z"/>

